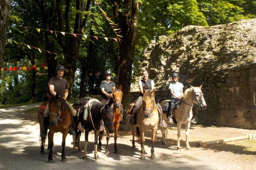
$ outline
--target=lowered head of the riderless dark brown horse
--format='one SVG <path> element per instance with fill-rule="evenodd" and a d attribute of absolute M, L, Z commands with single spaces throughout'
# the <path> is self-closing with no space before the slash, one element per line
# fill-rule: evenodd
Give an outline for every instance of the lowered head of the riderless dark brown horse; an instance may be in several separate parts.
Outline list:
<path fill-rule="evenodd" d="M 103 108 L 102 108 L 102 119 L 103 119 L 103 122 L 107 128 L 107 131 L 108 133 L 114 133 L 114 122 L 113 122 L 113 119 L 114 119 L 114 110 L 113 110 L 113 106 L 108 106 L 108 105 L 105 105 Z"/>

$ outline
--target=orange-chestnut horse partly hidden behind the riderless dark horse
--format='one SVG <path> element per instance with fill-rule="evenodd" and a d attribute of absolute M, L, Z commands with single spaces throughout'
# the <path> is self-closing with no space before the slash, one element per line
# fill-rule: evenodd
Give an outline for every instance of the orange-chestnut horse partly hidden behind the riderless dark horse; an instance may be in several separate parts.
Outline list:
<path fill-rule="evenodd" d="M 108 102 L 108 105 L 113 105 L 113 110 L 114 110 L 114 153 L 118 153 L 117 150 L 117 146 L 116 146 L 116 139 L 117 139 L 117 132 L 120 126 L 120 121 L 122 120 L 121 118 L 121 114 L 123 112 L 123 105 L 121 104 L 122 102 L 122 85 L 119 86 L 119 89 L 116 88 L 112 88 L 112 98 L 110 100 L 110 102 Z M 103 132 L 103 131 L 102 131 Z M 103 133 L 101 133 L 103 134 Z M 108 141 L 109 141 L 109 136 L 107 134 L 107 144 L 106 144 L 106 153 L 105 154 L 109 154 L 109 150 L 108 150 Z M 99 148 L 101 148 L 102 144 L 101 144 L 101 137 L 99 136 Z"/>

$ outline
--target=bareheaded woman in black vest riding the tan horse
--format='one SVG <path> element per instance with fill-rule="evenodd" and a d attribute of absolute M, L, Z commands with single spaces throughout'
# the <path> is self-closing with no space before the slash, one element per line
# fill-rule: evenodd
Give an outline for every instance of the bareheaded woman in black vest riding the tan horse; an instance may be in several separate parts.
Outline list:
<path fill-rule="evenodd" d="M 137 120 L 136 120 L 137 113 L 136 112 L 137 112 L 138 106 L 142 102 L 144 91 L 154 89 L 154 81 L 151 79 L 148 79 L 148 71 L 147 70 L 142 71 L 142 76 L 143 76 L 143 79 L 141 79 L 139 81 L 140 96 L 138 97 L 137 101 L 134 104 L 134 107 L 131 110 L 131 116 L 132 116 L 130 119 L 131 125 L 137 124 Z M 158 112 L 161 112 L 162 108 L 159 103 L 157 103 L 157 107 L 159 108 Z M 159 115 L 162 115 L 162 113 L 159 113 Z M 163 120 L 163 119 L 161 118 L 161 120 Z"/>

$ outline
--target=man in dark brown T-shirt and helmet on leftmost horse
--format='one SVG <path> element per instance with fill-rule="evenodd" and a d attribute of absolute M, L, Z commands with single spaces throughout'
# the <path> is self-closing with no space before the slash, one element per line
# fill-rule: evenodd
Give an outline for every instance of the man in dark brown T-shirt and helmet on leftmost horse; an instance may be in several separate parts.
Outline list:
<path fill-rule="evenodd" d="M 70 108 L 71 115 L 76 116 L 76 110 L 70 105 L 69 102 L 67 102 L 68 87 L 67 87 L 67 80 L 63 78 L 64 71 L 65 71 L 65 68 L 63 65 L 56 66 L 57 75 L 56 77 L 52 77 L 49 79 L 47 96 L 55 96 L 58 93 L 60 97 L 66 100 L 66 104 Z M 73 123 L 72 120 L 71 120 L 70 127 L 72 127 L 72 123 Z M 48 125 L 49 125 L 49 108 L 47 104 L 47 107 L 44 111 L 44 130 L 41 133 L 41 137 L 45 137 L 47 135 Z M 76 132 L 75 130 L 73 130 L 73 128 L 70 128 L 70 135 L 76 135 Z"/>

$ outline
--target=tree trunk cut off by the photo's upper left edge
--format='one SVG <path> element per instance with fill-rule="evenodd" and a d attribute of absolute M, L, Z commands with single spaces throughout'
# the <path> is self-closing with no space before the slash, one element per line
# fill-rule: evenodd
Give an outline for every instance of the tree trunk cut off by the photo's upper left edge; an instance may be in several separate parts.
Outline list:
<path fill-rule="evenodd" d="M 9 23 L 11 0 L 0 0 L 0 78 L 3 66 L 3 51 L 6 41 L 6 29 Z"/>

